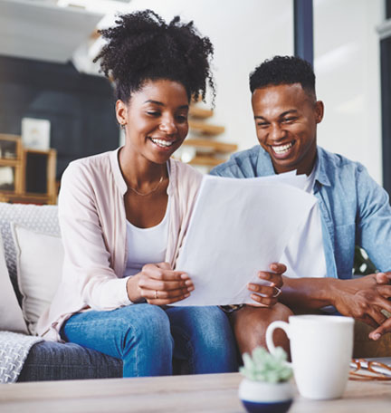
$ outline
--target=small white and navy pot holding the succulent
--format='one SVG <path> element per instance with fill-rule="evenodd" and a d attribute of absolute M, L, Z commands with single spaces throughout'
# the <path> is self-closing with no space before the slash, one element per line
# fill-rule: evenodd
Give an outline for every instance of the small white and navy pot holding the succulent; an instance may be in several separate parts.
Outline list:
<path fill-rule="evenodd" d="M 291 381 L 266 383 L 243 379 L 239 399 L 250 413 L 285 413 L 291 408 L 293 386 Z"/>

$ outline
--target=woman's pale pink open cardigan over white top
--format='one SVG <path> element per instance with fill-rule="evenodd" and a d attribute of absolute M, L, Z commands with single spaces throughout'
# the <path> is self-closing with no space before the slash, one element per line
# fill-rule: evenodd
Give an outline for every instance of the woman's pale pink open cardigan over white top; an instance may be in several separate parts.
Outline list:
<path fill-rule="evenodd" d="M 62 283 L 38 321 L 44 339 L 62 341 L 62 323 L 75 312 L 109 311 L 131 302 L 122 278 L 127 262 L 127 185 L 119 149 L 73 161 L 62 176 L 59 220 L 64 246 Z M 175 265 L 202 175 L 170 159 L 171 197 L 166 261 Z"/>

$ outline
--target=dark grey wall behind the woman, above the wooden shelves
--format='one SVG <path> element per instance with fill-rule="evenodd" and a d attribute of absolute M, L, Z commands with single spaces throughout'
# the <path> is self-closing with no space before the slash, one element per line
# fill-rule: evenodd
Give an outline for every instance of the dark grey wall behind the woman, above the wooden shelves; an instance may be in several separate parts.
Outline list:
<path fill-rule="evenodd" d="M 23 117 L 51 121 L 57 178 L 72 159 L 118 147 L 110 83 L 71 63 L 0 56 L 0 133 L 20 135 Z"/>

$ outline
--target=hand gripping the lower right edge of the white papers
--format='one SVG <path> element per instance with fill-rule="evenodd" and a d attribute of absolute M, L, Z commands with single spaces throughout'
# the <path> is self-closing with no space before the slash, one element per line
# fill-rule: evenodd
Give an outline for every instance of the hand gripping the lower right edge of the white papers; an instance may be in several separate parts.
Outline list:
<path fill-rule="evenodd" d="M 260 271 L 258 277 L 268 281 L 269 284 L 249 283 L 248 289 L 252 292 L 251 298 L 255 303 L 247 304 L 256 307 L 272 307 L 278 302 L 281 293 L 282 274 L 286 271 L 284 264 L 273 263 L 270 265 L 272 272 Z"/>

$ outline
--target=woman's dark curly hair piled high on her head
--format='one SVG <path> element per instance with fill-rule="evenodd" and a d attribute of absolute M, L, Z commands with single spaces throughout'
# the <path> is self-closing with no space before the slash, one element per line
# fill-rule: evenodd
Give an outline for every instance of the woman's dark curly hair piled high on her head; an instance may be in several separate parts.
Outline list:
<path fill-rule="evenodd" d="M 193 22 L 179 16 L 167 24 L 151 10 L 118 16 L 114 27 L 100 30 L 107 43 L 94 62 L 115 82 L 117 99 L 129 101 L 148 80 L 182 83 L 190 98 L 205 100 L 206 83 L 215 97 L 209 59 L 214 49 Z"/>

